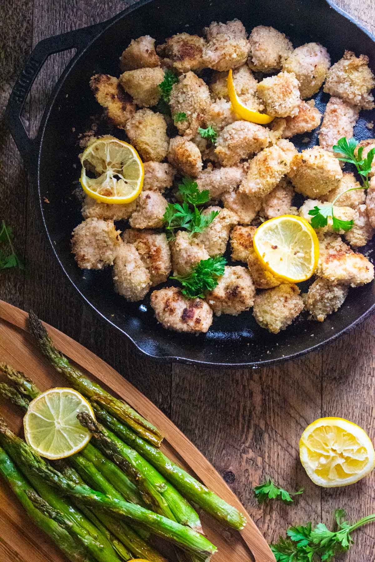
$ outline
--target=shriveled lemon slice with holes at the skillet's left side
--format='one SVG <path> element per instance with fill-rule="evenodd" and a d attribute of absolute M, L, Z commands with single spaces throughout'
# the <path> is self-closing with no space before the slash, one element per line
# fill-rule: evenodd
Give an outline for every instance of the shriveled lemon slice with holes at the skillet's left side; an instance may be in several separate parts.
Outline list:
<path fill-rule="evenodd" d="M 85 149 L 80 160 L 81 185 L 96 201 L 130 203 L 141 193 L 143 164 L 131 144 L 115 137 L 99 138 Z"/>

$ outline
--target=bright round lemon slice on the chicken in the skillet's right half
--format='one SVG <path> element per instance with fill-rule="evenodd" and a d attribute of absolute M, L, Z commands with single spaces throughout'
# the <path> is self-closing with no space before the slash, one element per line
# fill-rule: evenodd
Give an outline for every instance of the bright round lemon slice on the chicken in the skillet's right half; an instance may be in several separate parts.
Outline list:
<path fill-rule="evenodd" d="M 299 283 L 313 275 L 319 241 L 307 220 L 282 215 L 266 220 L 256 230 L 254 250 L 264 268 L 278 279 Z"/>

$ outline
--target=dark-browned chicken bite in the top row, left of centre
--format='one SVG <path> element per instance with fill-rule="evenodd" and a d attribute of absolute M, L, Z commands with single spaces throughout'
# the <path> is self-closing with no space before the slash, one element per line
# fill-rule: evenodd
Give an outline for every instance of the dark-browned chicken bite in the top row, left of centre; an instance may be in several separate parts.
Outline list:
<path fill-rule="evenodd" d="M 166 57 L 171 66 L 178 72 L 197 72 L 205 67 L 204 49 L 206 42 L 198 35 L 178 33 L 166 39 L 165 43 L 156 47 L 156 51 L 162 57 Z"/>

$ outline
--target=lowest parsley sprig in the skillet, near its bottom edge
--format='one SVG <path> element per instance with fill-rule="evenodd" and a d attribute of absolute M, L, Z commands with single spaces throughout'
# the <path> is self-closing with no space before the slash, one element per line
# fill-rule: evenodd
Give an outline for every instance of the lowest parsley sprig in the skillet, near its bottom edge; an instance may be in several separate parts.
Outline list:
<path fill-rule="evenodd" d="M 227 260 L 223 256 L 209 257 L 201 260 L 189 275 L 176 275 L 170 279 L 179 281 L 183 289 L 182 294 L 188 298 L 205 297 L 207 291 L 213 291 L 218 284 L 218 278 L 223 275 Z"/>

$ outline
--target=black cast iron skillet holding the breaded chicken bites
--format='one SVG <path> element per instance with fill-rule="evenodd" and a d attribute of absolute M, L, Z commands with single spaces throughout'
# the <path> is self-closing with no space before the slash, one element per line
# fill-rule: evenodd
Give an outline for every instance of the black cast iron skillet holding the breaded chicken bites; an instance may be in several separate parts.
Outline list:
<path fill-rule="evenodd" d="M 234 17 L 242 20 L 248 31 L 255 25 L 272 25 L 286 33 L 295 47 L 309 41 L 320 42 L 328 48 L 332 62 L 341 58 L 345 49 L 355 51 L 356 55 L 364 53 L 370 57 L 375 71 L 375 38 L 326 0 L 142 0 L 109 21 L 38 43 L 13 89 L 6 118 L 37 188 L 53 251 L 84 300 L 138 350 L 156 359 L 256 368 L 317 350 L 358 324 L 374 310 L 375 284 L 351 291 L 344 306 L 323 324 L 301 315 L 287 330 L 272 336 L 259 328 L 248 312 L 238 317 L 216 318 L 206 336 L 193 337 L 168 332 L 158 325 L 149 298 L 132 304 L 117 296 L 109 270 L 78 269 L 69 245 L 71 231 L 82 220 L 72 195 L 79 175 L 73 166 L 78 163 L 77 132 L 86 130 L 90 116 L 99 111 L 89 89 L 89 78 L 96 72 L 119 75 L 119 56 L 132 38 L 150 34 L 160 43 L 174 33 L 195 33 L 213 20 Z M 31 84 L 49 55 L 73 47 L 77 49 L 76 55 L 58 80 L 37 138 L 31 140 L 20 120 Z M 321 111 L 327 99 L 326 94 L 318 95 Z M 358 139 L 372 136 L 365 122 L 374 120 L 374 112 L 363 115 L 355 129 Z M 307 148 L 315 144 L 316 135 L 311 137 L 310 144 L 301 140 L 297 147 Z M 44 203 L 44 197 L 49 204 Z M 369 244 L 363 251 L 374 247 L 374 243 Z"/>

